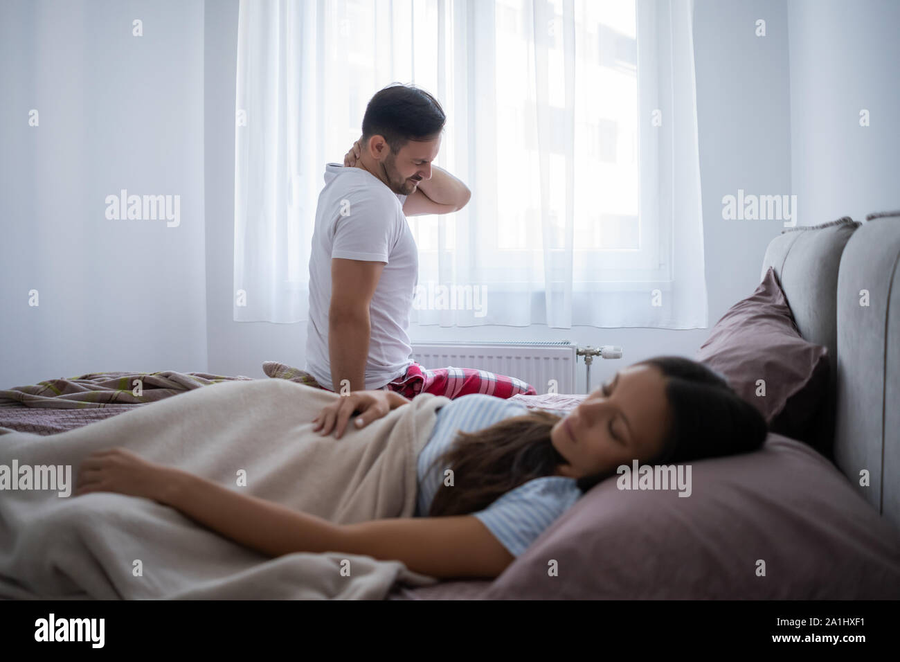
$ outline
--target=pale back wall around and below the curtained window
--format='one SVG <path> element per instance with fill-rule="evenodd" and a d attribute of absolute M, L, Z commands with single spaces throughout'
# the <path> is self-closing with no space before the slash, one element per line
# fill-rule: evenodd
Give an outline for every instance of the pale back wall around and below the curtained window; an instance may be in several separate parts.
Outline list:
<path fill-rule="evenodd" d="M 765 37 L 755 23 L 767 22 Z M 779 221 L 724 221 L 722 196 L 738 188 L 758 195 L 790 190 L 787 10 L 780 0 L 697 0 L 700 173 L 707 253 L 709 325 L 759 284 L 762 256 Z M 238 2 L 206 5 L 206 204 L 210 370 L 263 376 L 262 362 L 302 367 L 306 324 L 233 322 L 231 285 L 234 218 L 234 95 Z M 727 277 L 722 277 L 727 274 Z M 573 340 L 621 345 L 619 360 L 597 361 L 591 384 L 656 354 L 692 356 L 709 330 L 572 330 L 508 326 L 412 329 L 414 340 Z M 584 388 L 584 368 L 581 367 Z"/>

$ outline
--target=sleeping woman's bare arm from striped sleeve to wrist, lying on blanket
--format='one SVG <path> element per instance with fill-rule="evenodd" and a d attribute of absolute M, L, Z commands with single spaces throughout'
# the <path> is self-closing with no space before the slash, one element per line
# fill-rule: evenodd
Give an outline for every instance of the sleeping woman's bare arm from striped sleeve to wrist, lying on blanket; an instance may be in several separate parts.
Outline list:
<path fill-rule="evenodd" d="M 338 551 L 399 560 L 413 572 L 441 578 L 493 578 L 515 560 L 472 515 L 334 524 L 180 469 L 166 471 L 158 501 L 269 557 Z"/>

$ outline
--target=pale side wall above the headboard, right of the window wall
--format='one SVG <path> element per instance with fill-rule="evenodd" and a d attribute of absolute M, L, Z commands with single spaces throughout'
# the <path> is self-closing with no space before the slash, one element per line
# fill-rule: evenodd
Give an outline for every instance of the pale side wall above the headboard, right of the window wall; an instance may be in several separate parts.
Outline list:
<path fill-rule="evenodd" d="M 801 221 L 900 208 L 900 3 L 791 0 L 791 164 Z M 860 126 L 860 111 L 869 126 Z"/>

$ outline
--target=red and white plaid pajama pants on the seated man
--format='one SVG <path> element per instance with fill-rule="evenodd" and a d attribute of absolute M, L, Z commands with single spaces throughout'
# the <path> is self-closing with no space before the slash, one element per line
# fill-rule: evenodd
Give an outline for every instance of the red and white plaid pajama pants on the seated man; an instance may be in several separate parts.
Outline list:
<path fill-rule="evenodd" d="M 311 378 L 311 376 L 310 376 Z M 330 391 L 315 380 L 306 384 Z M 535 387 L 516 377 L 495 375 L 487 370 L 471 367 L 440 367 L 428 370 L 415 361 L 406 369 L 406 374 L 383 385 L 381 391 L 395 391 L 410 400 L 420 393 L 445 395 L 454 398 L 473 393 L 483 393 L 499 398 L 510 398 L 516 394 L 536 395 Z"/>

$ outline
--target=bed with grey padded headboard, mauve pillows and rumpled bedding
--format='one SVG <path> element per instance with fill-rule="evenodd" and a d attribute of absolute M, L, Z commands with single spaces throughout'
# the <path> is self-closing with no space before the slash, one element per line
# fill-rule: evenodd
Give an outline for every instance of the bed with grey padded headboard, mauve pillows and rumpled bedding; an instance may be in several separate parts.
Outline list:
<path fill-rule="evenodd" d="M 769 381 L 770 434 L 759 452 L 695 463 L 694 498 L 626 495 L 607 481 L 497 579 L 398 582 L 387 599 L 900 598 L 898 256 L 900 213 L 771 240 L 760 288 L 717 322 L 695 357 L 729 378 L 746 379 L 740 368 Z M 756 335 L 778 336 L 783 348 L 759 351 L 740 337 L 779 315 L 782 328 L 765 331 L 775 335 Z M 303 379 L 275 362 L 266 375 Z M 140 407 L 146 400 L 122 394 L 134 377 L 0 392 L 0 444 L 4 431 L 53 434 Z M 156 373 L 142 397 L 246 379 Z M 759 381 L 743 386 L 758 391 Z M 583 396 L 516 398 L 564 414 Z"/>

